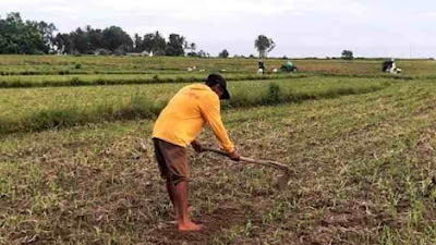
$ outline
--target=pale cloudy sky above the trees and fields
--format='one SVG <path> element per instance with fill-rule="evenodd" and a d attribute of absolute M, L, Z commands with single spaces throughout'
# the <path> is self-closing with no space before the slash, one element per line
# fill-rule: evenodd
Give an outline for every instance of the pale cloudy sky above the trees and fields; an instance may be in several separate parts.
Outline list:
<path fill-rule="evenodd" d="M 0 0 L 0 16 L 53 23 L 69 33 L 90 25 L 132 36 L 181 34 L 217 56 L 256 54 L 255 38 L 276 42 L 269 57 L 436 57 L 434 0 Z"/>

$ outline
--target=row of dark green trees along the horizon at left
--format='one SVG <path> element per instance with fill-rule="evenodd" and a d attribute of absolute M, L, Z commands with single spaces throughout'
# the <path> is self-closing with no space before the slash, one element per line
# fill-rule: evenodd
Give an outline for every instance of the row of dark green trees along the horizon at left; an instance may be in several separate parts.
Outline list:
<path fill-rule="evenodd" d="M 8 13 L 0 17 L 1 54 L 125 54 L 148 52 L 157 56 L 208 57 L 203 50 L 196 52 L 196 45 L 187 42 L 179 34 L 170 34 L 168 40 L 159 33 L 132 37 L 119 26 L 104 29 L 87 25 L 71 33 L 56 33 L 55 24 L 23 21 L 20 13 Z"/>

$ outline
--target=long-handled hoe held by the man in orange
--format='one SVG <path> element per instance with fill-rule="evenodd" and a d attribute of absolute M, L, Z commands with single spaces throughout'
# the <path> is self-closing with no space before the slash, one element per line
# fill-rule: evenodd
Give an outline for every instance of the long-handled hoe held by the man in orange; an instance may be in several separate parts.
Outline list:
<path fill-rule="evenodd" d="M 202 147 L 202 149 L 203 151 L 210 151 L 226 157 L 229 156 L 229 154 L 219 149 L 214 149 L 208 147 Z M 246 157 L 241 157 L 241 161 L 246 163 L 266 166 L 282 171 L 283 173 L 277 179 L 277 182 L 274 184 L 274 186 L 277 186 L 280 191 L 287 188 L 289 179 L 291 179 L 291 169 L 288 166 L 271 160 L 259 160 Z"/>

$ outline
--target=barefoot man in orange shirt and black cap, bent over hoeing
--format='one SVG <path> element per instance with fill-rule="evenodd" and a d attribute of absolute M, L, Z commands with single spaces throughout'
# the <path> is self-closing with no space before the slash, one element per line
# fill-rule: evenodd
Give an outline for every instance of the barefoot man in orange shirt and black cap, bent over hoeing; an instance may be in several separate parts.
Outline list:
<path fill-rule="evenodd" d="M 153 130 L 156 159 L 161 176 L 167 181 L 179 231 L 198 231 L 202 228 L 193 223 L 187 213 L 186 147 L 192 145 L 197 152 L 202 151 L 202 145 L 195 138 L 205 122 L 230 159 L 240 159 L 222 125 L 219 99 L 230 99 L 226 81 L 220 75 L 210 74 L 206 85 L 193 84 L 180 89 L 160 112 Z"/>

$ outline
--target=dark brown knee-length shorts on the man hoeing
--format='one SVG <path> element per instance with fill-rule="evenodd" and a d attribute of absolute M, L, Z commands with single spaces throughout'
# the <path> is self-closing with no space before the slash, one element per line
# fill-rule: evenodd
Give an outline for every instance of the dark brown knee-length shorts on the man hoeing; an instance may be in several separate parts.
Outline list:
<path fill-rule="evenodd" d="M 174 185 L 181 181 L 187 181 L 186 148 L 159 138 L 153 138 L 153 144 L 160 175 Z"/>

